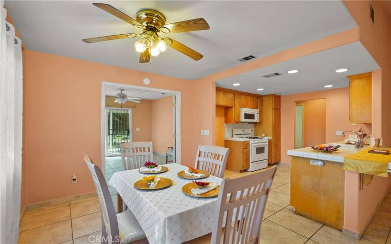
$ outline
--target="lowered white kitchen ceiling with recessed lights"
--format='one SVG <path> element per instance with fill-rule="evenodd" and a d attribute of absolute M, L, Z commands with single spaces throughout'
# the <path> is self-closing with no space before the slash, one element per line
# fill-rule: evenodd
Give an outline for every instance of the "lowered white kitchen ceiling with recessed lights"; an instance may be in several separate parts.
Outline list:
<path fill-rule="evenodd" d="M 344 73 L 334 72 L 340 68 L 349 70 Z M 333 85 L 332 88 L 347 87 L 349 79 L 346 76 L 366 73 L 378 68 L 367 49 L 357 41 L 222 79 L 217 81 L 216 85 L 261 95 L 272 93 L 287 95 L 323 90 L 326 89 L 324 86 L 327 84 Z M 300 71 L 296 74 L 286 73 L 292 69 Z M 275 72 L 281 73 L 282 76 L 262 77 Z M 240 83 L 240 86 L 233 86 L 233 83 Z M 257 88 L 264 88 L 264 90 L 257 91 Z"/>

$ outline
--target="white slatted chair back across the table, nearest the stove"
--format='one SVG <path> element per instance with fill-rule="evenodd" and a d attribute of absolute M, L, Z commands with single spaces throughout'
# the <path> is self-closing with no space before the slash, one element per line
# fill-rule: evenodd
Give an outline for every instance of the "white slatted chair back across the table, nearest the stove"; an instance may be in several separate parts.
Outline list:
<path fill-rule="evenodd" d="M 209 172 L 219 178 L 224 177 L 229 148 L 211 145 L 199 145 L 195 158 L 195 168 Z"/>

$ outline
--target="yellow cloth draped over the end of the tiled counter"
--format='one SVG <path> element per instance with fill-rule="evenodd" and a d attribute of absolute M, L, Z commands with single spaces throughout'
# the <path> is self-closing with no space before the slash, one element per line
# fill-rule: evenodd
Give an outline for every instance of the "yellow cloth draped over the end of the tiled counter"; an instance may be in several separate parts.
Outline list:
<path fill-rule="evenodd" d="M 367 175 L 388 177 L 388 163 L 391 162 L 391 154 L 368 153 L 372 149 L 389 150 L 391 148 L 368 148 L 344 158 L 344 169 Z"/>

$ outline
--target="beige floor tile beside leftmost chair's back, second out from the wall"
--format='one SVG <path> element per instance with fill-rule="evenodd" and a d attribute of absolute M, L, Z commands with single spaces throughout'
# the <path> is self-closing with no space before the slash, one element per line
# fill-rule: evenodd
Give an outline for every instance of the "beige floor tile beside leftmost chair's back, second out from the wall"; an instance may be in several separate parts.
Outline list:
<path fill-rule="evenodd" d="M 92 213 L 72 219 L 72 230 L 74 239 L 102 230 L 101 213 Z"/>

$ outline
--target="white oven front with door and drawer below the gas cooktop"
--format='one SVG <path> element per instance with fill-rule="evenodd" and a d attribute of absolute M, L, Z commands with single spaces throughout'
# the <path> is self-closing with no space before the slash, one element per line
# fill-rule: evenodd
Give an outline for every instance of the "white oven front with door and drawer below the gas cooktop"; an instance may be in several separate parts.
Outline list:
<path fill-rule="evenodd" d="M 267 168 L 267 147 L 266 142 L 251 142 L 250 141 L 250 168 L 248 171 L 255 171 L 262 168 Z"/>

